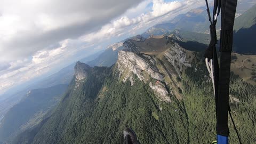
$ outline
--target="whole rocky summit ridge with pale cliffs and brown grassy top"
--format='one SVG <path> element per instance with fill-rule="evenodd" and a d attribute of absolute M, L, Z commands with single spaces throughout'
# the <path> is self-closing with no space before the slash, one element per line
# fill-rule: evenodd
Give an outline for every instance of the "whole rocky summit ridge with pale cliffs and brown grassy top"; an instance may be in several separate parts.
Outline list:
<path fill-rule="evenodd" d="M 171 102 L 171 95 L 178 95 L 177 98 L 182 99 L 181 94 L 177 92 L 181 87 L 176 77 L 181 77 L 182 71 L 186 67 L 191 67 L 187 58 L 187 53 L 191 55 L 191 52 L 177 43 L 182 41 L 181 37 L 172 34 L 148 39 L 140 37 L 140 39 L 143 41 L 128 39 L 124 42 L 124 51 L 118 52 L 117 67 L 121 81 L 126 82 L 129 79 L 133 85 L 135 75 L 140 81 L 149 84 L 160 100 Z M 149 45 L 154 41 L 162 43 Z M 150 51 L 153 50 L 154 53 L 145 52 L 145 46 L 149 46 Z M 168 82 L 166 78 L 169 79 Z"/>

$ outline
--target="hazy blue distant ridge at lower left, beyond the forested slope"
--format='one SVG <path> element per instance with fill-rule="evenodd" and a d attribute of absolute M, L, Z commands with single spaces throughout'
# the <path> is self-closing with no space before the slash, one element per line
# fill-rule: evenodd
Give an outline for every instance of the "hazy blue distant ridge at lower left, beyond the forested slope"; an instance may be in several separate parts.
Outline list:
<path fill-rule="evenodd" d="M 49 111 L 57 105 L 67 89 L 66 84 L 31 90 L 17 105 L 4 116 L 0 124 L 0 141 L 12 137 L 40 123 Z"/>

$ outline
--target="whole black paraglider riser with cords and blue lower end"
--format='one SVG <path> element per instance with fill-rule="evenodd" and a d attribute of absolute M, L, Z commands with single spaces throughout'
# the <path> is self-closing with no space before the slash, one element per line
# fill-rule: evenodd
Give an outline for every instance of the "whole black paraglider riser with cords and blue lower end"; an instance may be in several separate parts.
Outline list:
<path fill-rule="evenodd" d="M 215 109 L 217 117 L 217 141 L 218 143 L 228 143 L 228 113 L 235 127 L 240 143 L 238 131 L 236 129 L 229 106 L 229 81 L 231 51 L 233 46 L 233 27 L 237 0 L 215 0 L 213 7 L 213 19 L 207 0 L 207 14 L 209 16 L 211 42 L 205 51 L 205 62 L 213 82 L 215 95 Z M 215 45 L 217 44 L 216 23 L 221 8 L 221 40 L 220 40 L 220 66 Z"/>

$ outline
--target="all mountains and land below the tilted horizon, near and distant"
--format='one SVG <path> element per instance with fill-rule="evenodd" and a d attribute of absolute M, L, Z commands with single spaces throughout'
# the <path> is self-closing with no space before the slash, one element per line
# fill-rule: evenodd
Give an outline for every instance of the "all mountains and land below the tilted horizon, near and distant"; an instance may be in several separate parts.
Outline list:
<path fill-rule="evenodd" d="M 243 143 L 251 143 L 256 5 L 248 9 L 254 1 L 243 2 L 234 28 L 229 102 Z M 210 43 L 206 16 L 204 7 L 178 15 L 29 86 L 0 119 L 0 143 L 122 143 L 126 126 L 140 143 L 210 143 L 215 104 L 202 61 Z M 230 142 L 238 143 L 229 124 Z"/>

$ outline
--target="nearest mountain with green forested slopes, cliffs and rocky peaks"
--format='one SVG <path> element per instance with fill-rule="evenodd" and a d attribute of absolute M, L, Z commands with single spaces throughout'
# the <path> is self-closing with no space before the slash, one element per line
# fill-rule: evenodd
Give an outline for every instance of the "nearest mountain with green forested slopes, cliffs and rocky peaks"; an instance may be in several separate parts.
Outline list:
<path fill-rule="evenodd" d="M 126 126 L 140 143 L 215 140 L 215 103 L 203 52 L 182 47 L 176 35 L 162 38 L 125 41 L 112 67 L 78 62 L 55 112 L 15 143 L 122 143 Z M 150 45 L 154 41 L 163 44 Z M 230 105 L 243 143 L 256 140 L 255 88 L 231 76 Z M 231 123 L 230 142 L 237 143 Z"/>

